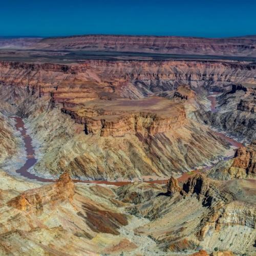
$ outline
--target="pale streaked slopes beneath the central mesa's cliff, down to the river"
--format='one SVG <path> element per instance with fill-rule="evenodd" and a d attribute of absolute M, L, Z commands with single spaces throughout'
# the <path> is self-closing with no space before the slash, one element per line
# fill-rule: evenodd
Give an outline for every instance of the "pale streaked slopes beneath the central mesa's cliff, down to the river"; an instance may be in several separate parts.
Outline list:
<path fill-rule="evenodd" d="M 57 110 L 43 112 L 36 119 L 31 116 L 29 124 L 44 154 L 34 170 L 46 177 L 67 171 L 82 179 L 156 179 L 214 160 L 218 152 L 227 148 L 221 138 L 190 120 L 184 125 L 174 123 L 165 133 L 151 135 L 146 131 L 145 136 L 133 134 L 131 126 L 127 126 L 119 131 L 125 132 L 124 136 L 118 137 L 86 135 L 83 125 L 74 124 Z M 196 141 L 191 143 L 191 138 Z"/>

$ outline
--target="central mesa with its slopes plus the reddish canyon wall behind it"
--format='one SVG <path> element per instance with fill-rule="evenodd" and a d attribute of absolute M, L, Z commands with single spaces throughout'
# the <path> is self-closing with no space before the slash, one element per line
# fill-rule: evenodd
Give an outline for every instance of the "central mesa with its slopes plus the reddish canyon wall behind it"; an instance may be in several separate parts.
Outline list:
<path fill-rule="evenodd" d="M 213 84 L 225 88 L 232 81 L 251 82 L 255 76 L 253 64 L 217 61 L 0 66 L 3 100 L 19 116 L 30 117 L 30 130 L 41 144 L 44 158 L 34 171 L 54 177 L 67 171 L 83 179 L 169 176 L 209 163 L 226 144 L 189 120 L 186 111 L 198 107 L 195 91 L 210 90 Z M 67 127 L 59 109 L 76 123 Z"/>

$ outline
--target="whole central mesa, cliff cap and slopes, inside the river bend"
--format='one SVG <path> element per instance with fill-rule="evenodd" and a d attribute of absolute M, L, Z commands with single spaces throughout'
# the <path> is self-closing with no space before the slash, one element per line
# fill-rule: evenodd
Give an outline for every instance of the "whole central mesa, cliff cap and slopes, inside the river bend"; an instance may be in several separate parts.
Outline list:
<path fill-rule="evenodd" d="M 76 98 L 71 104 L 63 99 L 56 103 L 57 98 L 36 87 L 0 88 L 10 111 L 29 117 L 29 132 L 43 156 L 31 170 L 38 176 L 69 172 L 82 179 L 155 179 L 210 163 L 227 148 L 221 138 L 187 117 L 194 98 L 92 99 L 86 95 L 100 91 L 87 89 L 84 100 Z M 184 86 L 177 92 L 194 95 Z M 70 94 L 68 90 L 65 97 Z"/>

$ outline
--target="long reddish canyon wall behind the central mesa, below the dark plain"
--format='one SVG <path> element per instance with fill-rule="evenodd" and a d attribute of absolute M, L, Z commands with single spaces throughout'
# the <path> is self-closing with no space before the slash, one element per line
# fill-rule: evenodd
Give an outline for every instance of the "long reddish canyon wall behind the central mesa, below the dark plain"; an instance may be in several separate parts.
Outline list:
<path fill-rule="evenodd" d="M 219 61 L 105 61 L 75 65 L 0 62 L 0 82 L 20 86 L 55 102 L 83 102 L 88 98 L 142 98 L 173 90 L 179 84 L 193 88 L 225 87 L 253 82 L 256 66 Z"/>

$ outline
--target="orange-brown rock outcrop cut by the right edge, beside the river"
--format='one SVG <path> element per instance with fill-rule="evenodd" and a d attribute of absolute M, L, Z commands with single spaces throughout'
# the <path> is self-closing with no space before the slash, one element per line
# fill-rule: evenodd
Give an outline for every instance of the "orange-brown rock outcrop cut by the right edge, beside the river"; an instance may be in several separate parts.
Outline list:
<path fill-rule="evenodd" d="M 256 141 L 237 149 L 231 167 L 245 169 L 248 177 L 256 176 Z"/>

